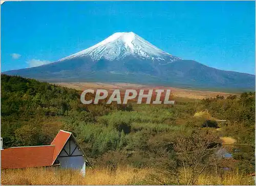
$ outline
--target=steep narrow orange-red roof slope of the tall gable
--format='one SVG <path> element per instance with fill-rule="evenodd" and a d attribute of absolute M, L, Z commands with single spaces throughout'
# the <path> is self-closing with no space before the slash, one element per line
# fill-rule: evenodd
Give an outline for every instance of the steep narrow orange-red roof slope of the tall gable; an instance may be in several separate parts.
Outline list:
<path fill-rule="evenodd" d="M 71 132 L 67 132 L 67 131 L 64 131 L 64 130 L 59 130 L 57 136 L 54 138 L 54 140 L 51 143 L 51 145 L 55 145 L 54 153 L 53 153 L 53 157 L 52 157 L 52 164 L 55 162 L 55 160 L 58 157 L 60 151 L 65 146 L 65 144 L 67 143 L 67 141 L 68 141 L 68 139 L 70 138 L 71 135 L 72 135 Z"/>

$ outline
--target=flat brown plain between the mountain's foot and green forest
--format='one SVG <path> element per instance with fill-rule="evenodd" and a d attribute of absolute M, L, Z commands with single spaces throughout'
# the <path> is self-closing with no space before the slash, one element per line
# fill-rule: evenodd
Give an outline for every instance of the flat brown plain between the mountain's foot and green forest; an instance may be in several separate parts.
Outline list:
<path fill-rule="evenodd" d="M 216 97 L 217 95 L 221 95 L 227 97 L 229 95 L 238 95 L 234 93 L 226 93 L 226 92 L 214 92 L 214 91 L 206 91 L 206 90 L 189 90 L 189 89 L 181 89 L 174 87 L 164 87 L 164 86 L 147 86 L 147 85 L 138 85 L 138 84 L 127 84 L 127 83 L 55 83 L 56 85 L 60 85 L 63 87 L 73 88 L 77 90 L 86 90 L 86 89 L 105 89 L 112 92 L 114 89 L 120 89 L 121 94 L 124 94 L 127 89 L 144 89 L 145 93 L 149 89 L 163 89 L 170 90 L 173 97 L 180 98 L 190 98 L 190 99 L 204 99 L 210 97 Z M 154 92 L 153 92 L 154 97 Z"/>

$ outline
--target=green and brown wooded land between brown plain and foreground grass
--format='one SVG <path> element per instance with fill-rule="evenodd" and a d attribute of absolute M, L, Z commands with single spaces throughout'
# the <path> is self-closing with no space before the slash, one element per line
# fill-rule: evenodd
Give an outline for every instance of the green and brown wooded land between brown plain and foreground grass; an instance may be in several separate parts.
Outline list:
<path fill-rule="evenodd" d="M 234 171 L 239 176 L 254 172 L 254 92 L 203 100 L 176 98 L 175 105 L 83 105 L 81 91 L 75 89 L 4 74 L 1 85 L 4 148 L 50 144 L 63 129 L 73 132 L 93 169 L 154 170 L 154 181 L 142 184 L 215 184 L 216 177 L 223 179 Z M 205 110 L 210 119 L 194 117 Z M 224 146 L 220 137 L 235 142 Z M 223 147 L 232 158 L 216 153 Z M 2 181 L 11 174 L 7 171 Z M 199 182 L 207 175 L 209 182 Z"/>

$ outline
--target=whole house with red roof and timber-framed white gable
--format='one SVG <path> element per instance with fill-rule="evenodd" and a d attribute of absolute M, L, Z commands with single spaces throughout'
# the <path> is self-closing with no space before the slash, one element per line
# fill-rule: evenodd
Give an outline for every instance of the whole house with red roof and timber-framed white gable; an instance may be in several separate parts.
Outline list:
<path fill-rule="evenodd" d="M 83 174 L 87 166 L 91 167 L 73 134 L 64 130 L 59 130 L 51 145 L 11 147 L 1 150 L 2 169 L 49 166 L 80 169 Z"/>

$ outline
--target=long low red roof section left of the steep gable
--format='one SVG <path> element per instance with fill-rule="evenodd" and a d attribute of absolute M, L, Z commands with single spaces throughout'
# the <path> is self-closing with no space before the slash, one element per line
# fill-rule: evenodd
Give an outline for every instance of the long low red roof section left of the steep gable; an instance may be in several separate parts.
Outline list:
<path fill-rule="evenodd" d="M 2 169 L 45 167 L 52 165 L 54 145 L 12 147 L 1 150 Z"/>

